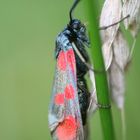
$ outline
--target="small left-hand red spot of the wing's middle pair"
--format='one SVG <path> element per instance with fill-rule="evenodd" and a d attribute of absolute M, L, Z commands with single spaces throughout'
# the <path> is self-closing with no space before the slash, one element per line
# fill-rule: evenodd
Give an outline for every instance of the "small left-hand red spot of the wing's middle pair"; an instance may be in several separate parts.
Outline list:
<path fill-rule="evenodd" d="M 57 93 L 55 95 L 55 99 L 54 99 L 55 104 L 57 105 L 62 105 L 64 104 L 64 94 L 63 93 Z"/>

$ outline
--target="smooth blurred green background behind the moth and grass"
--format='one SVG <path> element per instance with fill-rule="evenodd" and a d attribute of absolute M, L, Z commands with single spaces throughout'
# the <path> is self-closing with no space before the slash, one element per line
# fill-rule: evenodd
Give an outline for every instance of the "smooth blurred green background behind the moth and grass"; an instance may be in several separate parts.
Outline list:
<path fill-rule="evenodd" d="M 51 140 L 47 113 L 55 38 L 69 21 L 72 2 L 0 0 L 0 140 Z M 75 17 L 86 22 L 84 6 L 82 1 Z M 139 39 L 126 74 L 127 140 L 140 137 Z M 120 114 L 114 106 L 113 120 L 121 140 Z M 98 111 L 90 117 L 90 127 L 91 139 L 101 140 Z"/>

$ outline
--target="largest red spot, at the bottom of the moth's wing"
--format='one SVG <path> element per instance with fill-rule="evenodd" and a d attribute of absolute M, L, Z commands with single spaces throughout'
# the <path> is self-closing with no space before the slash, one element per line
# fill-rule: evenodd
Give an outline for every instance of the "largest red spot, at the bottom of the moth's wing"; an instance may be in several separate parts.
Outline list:
<path fill-rule="evenodd" d="M 58 140 L 75 140 L 77 132 L 77 123 L 73 116 L 67 116 L 61 122 L 56 130 Z"/>

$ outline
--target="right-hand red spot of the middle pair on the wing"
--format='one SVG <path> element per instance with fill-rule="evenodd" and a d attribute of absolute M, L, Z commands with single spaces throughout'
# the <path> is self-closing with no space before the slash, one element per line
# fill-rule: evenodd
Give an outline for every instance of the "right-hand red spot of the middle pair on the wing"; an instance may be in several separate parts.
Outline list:
<path fill-rule="evenodd" d="M 71 84 L 68 84 L 66 87 L 65 87 L 65 98 L 66 99 L 73 99 L 74 98 L 74 88 Z"/>

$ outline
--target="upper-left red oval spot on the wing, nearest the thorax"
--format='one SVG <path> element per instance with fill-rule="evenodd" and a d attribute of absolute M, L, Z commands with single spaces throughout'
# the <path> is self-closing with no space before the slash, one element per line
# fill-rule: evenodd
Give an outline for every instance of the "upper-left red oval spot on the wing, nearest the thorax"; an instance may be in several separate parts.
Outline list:
<path fill-rule="evenodd" d="M 64 51 L 60 51 L 59 55 L 58 55 L 58 59 L 57 59 L 57 66 L 59 69 L 61 70 L 66 70 L 66 58 L 65 58 L 65 52 Z"/>

